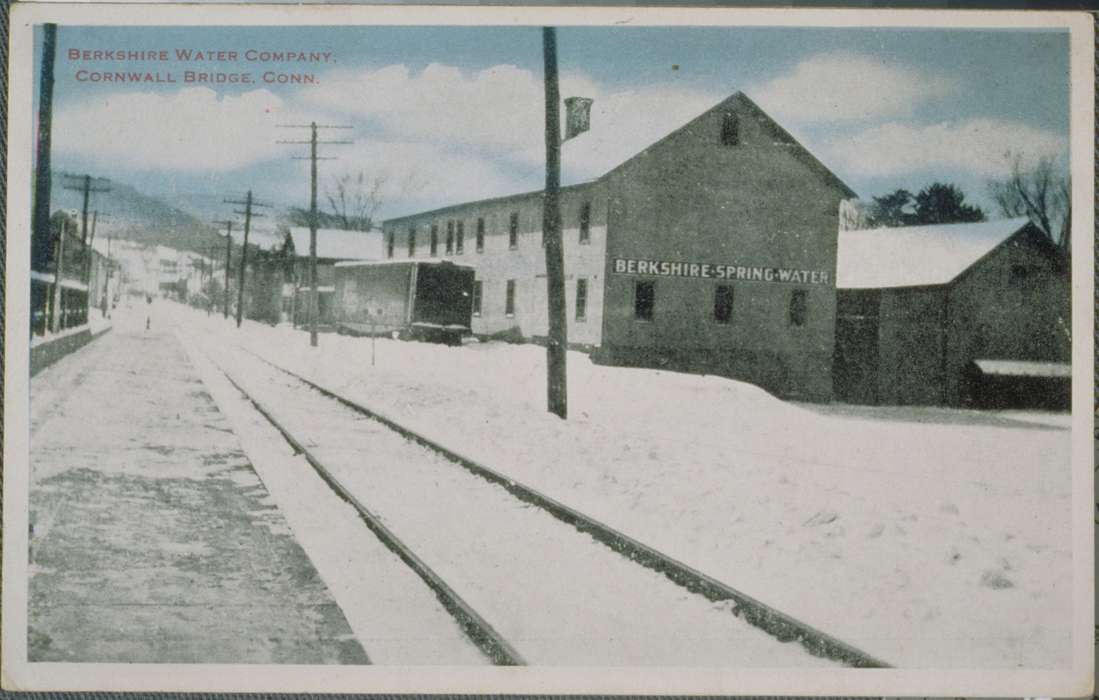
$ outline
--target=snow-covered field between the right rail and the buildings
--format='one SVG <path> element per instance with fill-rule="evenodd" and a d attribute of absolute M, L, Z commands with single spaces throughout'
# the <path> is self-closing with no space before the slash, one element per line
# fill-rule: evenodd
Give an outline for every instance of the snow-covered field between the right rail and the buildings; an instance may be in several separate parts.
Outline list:
<path fill-rule="evenodd" d="M 1069 664 L 1068 416 L 799 407 L 545 351 L 322 335 L 159 302 L 899 667 Z"/>

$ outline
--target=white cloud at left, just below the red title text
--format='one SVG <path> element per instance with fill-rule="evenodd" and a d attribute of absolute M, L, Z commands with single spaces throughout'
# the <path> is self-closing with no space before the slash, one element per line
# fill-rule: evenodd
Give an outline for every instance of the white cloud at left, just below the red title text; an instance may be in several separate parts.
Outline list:
<path fill-rule="evenodd" d="M 259 89 L 218 97 L 210 88 L 115 92 L 64 105 L 54 120 L 60 153 L 136 169 L 224 171 L 285 154 L 277 123 L 295 115 Z"/>

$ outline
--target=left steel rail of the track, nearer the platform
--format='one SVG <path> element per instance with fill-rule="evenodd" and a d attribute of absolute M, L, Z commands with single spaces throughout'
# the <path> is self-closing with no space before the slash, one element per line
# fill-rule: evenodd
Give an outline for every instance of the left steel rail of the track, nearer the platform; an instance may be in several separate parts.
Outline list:
<path fill-rule="evenodd" d="M 423 580 L 424 584 L 435 593 L 439 601 L 448 613 L 455 619 L 465 632 L 466 636 L 477 645 L 485 656 L 497 666 L 525 666 L 526 662 L 502 636 L 482 618 L 473 607 L 462 599 L 458 593 L 451 588 L 442 577 L 439 576 L 428 564 L 418 557 L 401 540 L 386 527 L 378 516 L 364 505 L 354 495 L 351 493 L 332 473 L 309 451 L 290 431 L 265 407 L 255 396 L 242 387 L 233 377 L 213 358 L 207 356 L 210 362 L 218 367 L 218 370 L 225 376 L 237 391 L 247 399 L 252 405 L 263 415 L 282 438 L 320 475 L 321 479 L 332 489 L 336 496 L 348 503 L 358 513 L 359 519 L 378 537 L 378 540 L 390 552 L 396 554 L 409 568 Z M 269 363 L 268 363 L 269 364 Z"/>

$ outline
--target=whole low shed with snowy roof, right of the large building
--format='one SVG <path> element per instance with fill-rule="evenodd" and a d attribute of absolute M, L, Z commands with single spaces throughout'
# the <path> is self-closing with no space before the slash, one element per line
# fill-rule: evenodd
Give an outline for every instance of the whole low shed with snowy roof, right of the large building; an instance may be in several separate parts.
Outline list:
<path fill-rule="evenodd" d="M 1063 405 L 1068 266 L 1026 219 L 841 231 L 835 398 Z"/>

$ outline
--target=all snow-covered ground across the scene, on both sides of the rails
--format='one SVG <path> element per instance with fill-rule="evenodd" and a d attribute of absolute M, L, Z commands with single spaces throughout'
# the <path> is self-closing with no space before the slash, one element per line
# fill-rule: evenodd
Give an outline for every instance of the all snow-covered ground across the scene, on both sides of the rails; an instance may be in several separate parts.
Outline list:
<path fill-rule="evenodd" d="M 795 405 L 729 379 L 601 367 L 571 353 L 570 418 L 563 422 L 544 411 L 545 352 L 537 346 L 323 334 L 311 348 L 308 334 L 289 326 L 245 321 L 237 330 L 168 301 L 153 304 L 151 323 L 146 334 L 143 316 L 127 319 L 120 309 L 114 330 L 34 380 L 32 551 L 42 568 L 32 589 L 43 600 L 64 574 L 40 564 L 37 547 L 75 537 L 56 524 L 46 532 L 37 525 L 41 513 L 65 512 L 55 502 L 65 492 L 58 479 L 129 470 L 212 488 L 222 477 L 188 451 L 210 445 L 246 455 L 252 488 L 269 499 L 267 516 L 315 567 L 315 595 L 342 611 L 345 632 L 336 636 L 349 627 L 378 664 L 487 663 L 227 374 L 315 448 L 526 663 L 831 663 L 303 390 L 254 353 L 891 665 L 1053 668 L 1068 658 L 1067 414 Z M 53 421 L 88 420 L 77 409 L 98 405 L 103 388 L 89 377 L 165 356 L 180 368 L 174 373 L 201 381 L 218 430 L 196 432 L 198 419 L 188 423 L 186 414 L 173 420 L 180 392 L 142 382 L 114 400 L 120 415 L 129 413 L 103 434 L 104 453 L 82 471 L 80 453 L 48 442 L 64 434 Z M 88 398 L 63 407 L 68 385 Z M 168 467 L 147 452 L 118 466 L 123 458 L 109 445 L 125 444 L 134 411 L 142 430 L 156 425 L 157 435 L 188 446 L 171 453 L 170 475 L 153 476 Z M 198 421 L 206 422 L 213 424 Z M 109 509 L 110 498 L 122 497 L 89 488 L 81 498 L 86 508 Z M 238 518 L 225 512 L 238 508 L 234 501 L 203 508 Z M 100 536 L 100 546 L 121 546 L 113 525 Z M 193 540 L 186 530 L 174 536 Z M 80 586 L 79 577 L 66 580 Z M 54 637 L 33 614 L 32 626 Z"/>

